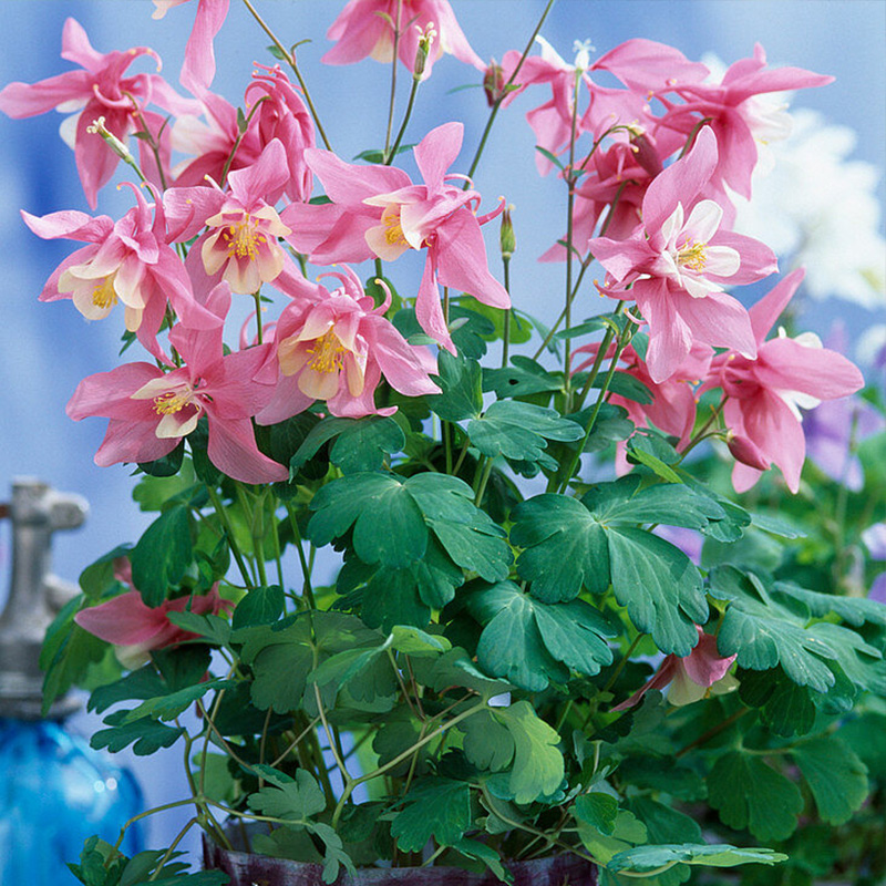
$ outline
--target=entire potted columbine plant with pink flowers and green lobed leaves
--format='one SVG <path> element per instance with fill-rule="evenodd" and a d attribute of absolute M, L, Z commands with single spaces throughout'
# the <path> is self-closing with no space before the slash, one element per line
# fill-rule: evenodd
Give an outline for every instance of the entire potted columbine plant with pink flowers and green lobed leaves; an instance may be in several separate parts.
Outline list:
<path fill-rule="evenodd" d="M 156 17 L 183 3 L 155 0 Z M 776 272 L 732 229 L 730 188 L 750 193 L 773 128 L 760 96 L 828 78 L 770 70 L 758 47 L 718 83 L 648 40 L 596 61 L 579 43 L 569 63 L 538 37 L 547 9 L 485 66 L 446 0 L 351 0 L 323 61 L 389 63 L 392 97 L 384 146 L 348 162 L 282 37 L 299 85 L 258 65 L 241 109 L 209 91 L 228 0 L 194 6 L 192 99 L 127 75 L 153 51 L 101 55 L 73 20 L 63 55 L 82 71 L 0 92 L 11 116 L 85 102 L 68 130 L 93 208 L 120 157 L 145 183 L 119 220 L 23 213 L 86 244 L 41 298 L 122 312 L 151 358 L 86 378 L 68 411 L 110 420 L 95 461 L 137 465 L 136 497 L 159 512 L 84 571 L 45 646 L 47 705 L 116 657 L 90 699 L 107 712 L 93 744 L 183 746 L 188 790 L 168 805 L 195 810 L 132 859 L 122 834 L 90 839 L 74 873 L 225 882 L 174 861 L 193 825 L 319 862 L 326 883 L 374 864 L 509 882 L 509 863 L 558 853 L 606 884 L 670 886 L 705 864 L 811 883 L 833 865 L 808 846 L 833 826 L 855 841 L 839 864 L 882 873 L 853 814 L 882 804 L 865 761 L 883 775 L 886 607 L 864 593 L 883 524 L 861 480 L 882 484 L 883 460 L 853 431 L 851 483 L 803 473 L 801 410 L 864 382 L 779 327 L 802 271 L 750 310 L 730 292 Z M 470 162 L 457 121 L 401 145 L 443 53 L 480 69 L 492 105 Z M 496 115 L 538 85 L 538 167 L 566 203 L 544 256 L 565 266 L 550 329 L 512 308 L 512 212 L 474 179 Z M 190 155 L 173 163 L 174 146 Z M 394 282 L 410 250 L 414 289 Z M 598 293 L 609 312 L 586 307 Z M 235 329 L 233 299 L 254 302 Z M 320 586 L 329 548 L 341 565 Z"/>

